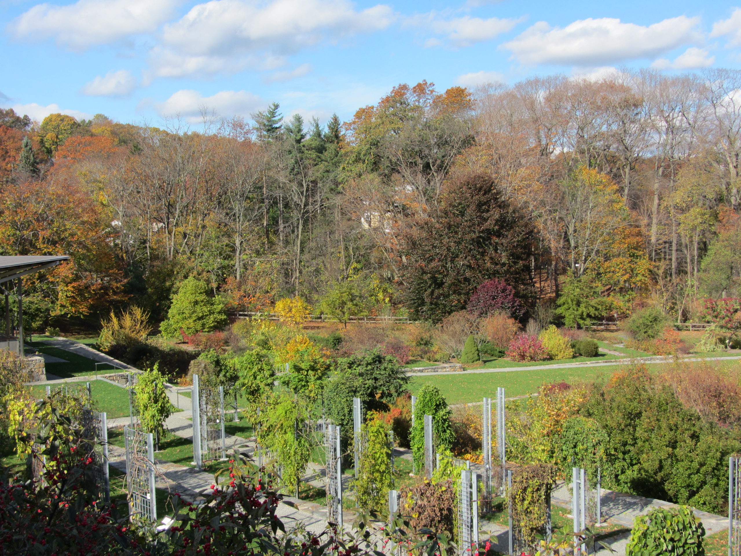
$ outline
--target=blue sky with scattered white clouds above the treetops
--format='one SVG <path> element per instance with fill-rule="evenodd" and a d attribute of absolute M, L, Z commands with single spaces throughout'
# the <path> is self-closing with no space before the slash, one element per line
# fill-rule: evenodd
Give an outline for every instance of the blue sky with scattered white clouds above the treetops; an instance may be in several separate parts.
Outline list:
<path fill-rule="evenodd" d="M 158 125 L 350 119 L 394 85 L 438 90 L 615 67 L 741 65 L 741 2 L 0 0 L 0 106 Z"/>

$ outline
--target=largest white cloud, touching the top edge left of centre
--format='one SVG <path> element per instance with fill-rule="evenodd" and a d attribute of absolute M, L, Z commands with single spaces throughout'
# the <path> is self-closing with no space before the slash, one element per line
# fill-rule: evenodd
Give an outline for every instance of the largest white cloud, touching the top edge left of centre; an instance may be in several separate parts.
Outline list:
<path fill-rule="evenodd" d="M 167 24 L 151 63 L 158 76 L 234 72 L 285 63 L 285 56 L 325 40 L 384 29 L 385 4 L 357 11 L 349 0 L 211 0 Z"/>

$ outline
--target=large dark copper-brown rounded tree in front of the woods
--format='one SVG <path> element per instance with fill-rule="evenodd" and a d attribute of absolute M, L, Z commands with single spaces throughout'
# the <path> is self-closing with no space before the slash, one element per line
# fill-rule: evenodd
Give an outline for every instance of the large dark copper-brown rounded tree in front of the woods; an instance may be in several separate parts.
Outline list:
<path fill-rule="evenodd" d="M 406 301 L 424 320 L 464 309 L 476 286 L 499 278 L 532 295 L 529 265 L 534 230 L 483 174 L 447 185 L 439 210 L 404 238 Z"/>

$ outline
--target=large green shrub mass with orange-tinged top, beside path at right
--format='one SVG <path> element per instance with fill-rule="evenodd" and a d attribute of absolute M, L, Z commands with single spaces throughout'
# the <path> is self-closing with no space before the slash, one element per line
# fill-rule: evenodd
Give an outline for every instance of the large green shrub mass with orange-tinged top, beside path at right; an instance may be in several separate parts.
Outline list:
<path fill-rule="evenodd" d="M 645 365 L 614 373 L 580 408 L 605 431 L 608 489 L 721 513 L 728 506 L 728 457 L 741 449 L 733 428 L 702 420 Z"/>

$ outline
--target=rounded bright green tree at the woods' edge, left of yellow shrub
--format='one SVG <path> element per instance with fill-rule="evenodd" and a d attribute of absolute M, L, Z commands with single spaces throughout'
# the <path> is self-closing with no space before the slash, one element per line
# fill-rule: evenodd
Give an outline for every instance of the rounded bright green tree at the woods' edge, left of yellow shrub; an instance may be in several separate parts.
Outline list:
<path fill-rule="evenodd" d="M 208 285 L 194 277 L 185 279 L 173 296 L 167 320 L 159 325 L 162 335 L 176 338 L 182 332 L 213 332 L 227 323 L 224 305 L 218 298 L 210 297 Z"/>

